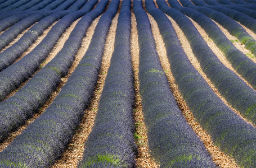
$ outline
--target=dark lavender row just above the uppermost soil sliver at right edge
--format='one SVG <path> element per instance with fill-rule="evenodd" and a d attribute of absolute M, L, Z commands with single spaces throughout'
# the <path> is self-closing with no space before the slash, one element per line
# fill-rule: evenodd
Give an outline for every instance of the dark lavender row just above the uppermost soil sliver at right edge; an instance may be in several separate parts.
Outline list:
<path fill-rule="evenodd" d="M 218 12 L 222 12 L 228 17 L 231 17 L 233 20 L 240 22 L 242 25 L 248 27 L 248 29 L 256 33 L 256 20 L 254 18 L 251 18 L 250 16 L 245 15 L 244 13 L 221 6 L 210 6 L 205 3 L 207 2 L 206 0 L 205 2 L 203 0 L 191 0 L 191 2 L 193 2 L 196 6 L 203 6 Z"/>

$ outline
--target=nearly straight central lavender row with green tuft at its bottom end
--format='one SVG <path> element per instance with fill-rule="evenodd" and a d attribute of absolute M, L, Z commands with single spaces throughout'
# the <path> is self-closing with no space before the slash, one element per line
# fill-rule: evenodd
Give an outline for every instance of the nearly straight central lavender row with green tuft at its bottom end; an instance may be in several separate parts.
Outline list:
<path fill-rule="evenodd" d="M 84 145 L 83 159 L 78 167 L 135 167 L 137 151 L 133 137 L 134 88 L 130 34 L 131 0 L 123 0 L 116 28 L 115 48 L 95 125 Z"/>

